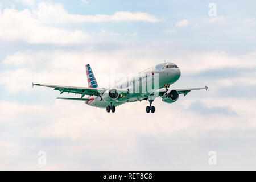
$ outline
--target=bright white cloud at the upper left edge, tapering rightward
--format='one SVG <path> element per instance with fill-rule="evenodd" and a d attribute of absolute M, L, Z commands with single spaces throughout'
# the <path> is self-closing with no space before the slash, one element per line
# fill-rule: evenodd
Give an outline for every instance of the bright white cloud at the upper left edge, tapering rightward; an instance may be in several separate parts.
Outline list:
<path fill-rule="evenodd" d="M 0 38 L 6 40 L 18 39 L 31 44 L 77 44 L 88 39 L 88 35 L 80 30 L 68 31 L 44 26 L 32 17 L 28 9 L 5 9 L 0 14 L 0 22 Z"/>

